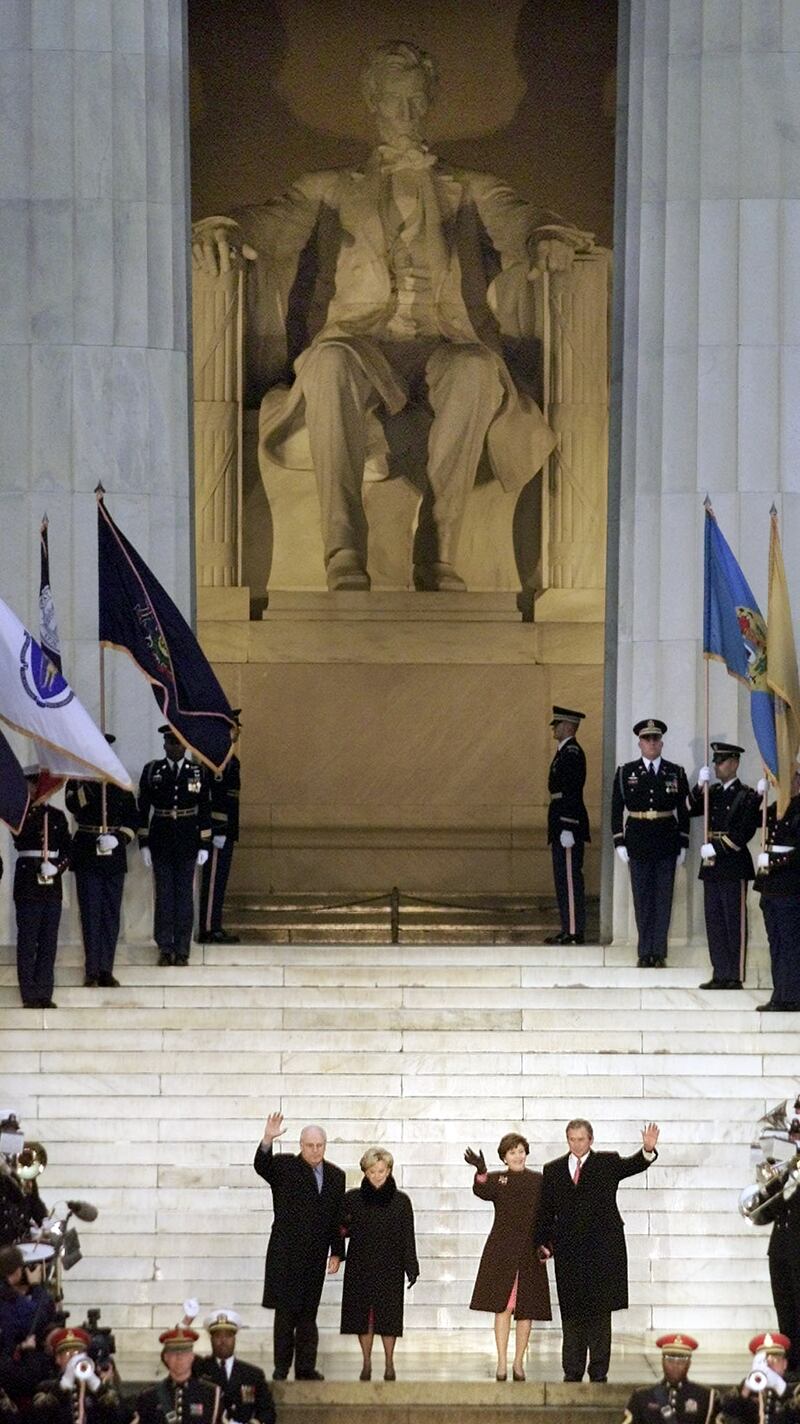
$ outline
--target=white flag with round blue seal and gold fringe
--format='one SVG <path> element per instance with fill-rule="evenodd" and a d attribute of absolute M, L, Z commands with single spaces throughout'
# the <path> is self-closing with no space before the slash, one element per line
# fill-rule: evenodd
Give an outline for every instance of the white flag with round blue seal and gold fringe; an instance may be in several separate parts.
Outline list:
<path fill-rule="evenodd" d="M 110 780 L 132 789 L 125 768 L 67 679 L 1 598 L 0 718 L 34 739 L 40 766 L 54 776 Z"/>

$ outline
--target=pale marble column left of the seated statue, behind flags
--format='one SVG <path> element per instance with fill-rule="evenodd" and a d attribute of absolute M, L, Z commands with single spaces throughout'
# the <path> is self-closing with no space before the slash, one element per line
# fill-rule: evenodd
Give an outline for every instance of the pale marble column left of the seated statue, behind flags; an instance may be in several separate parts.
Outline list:
<path fill-rule="evenodd" d="M 191 612 L 185 70 L 182 0 L 0 0 L 0 594 L 36 627 L 47 510 L 64 669 L 95 716 L 98 480 Z M 107 668 L 138 778 L 158 711 L 124 655 Z"/>

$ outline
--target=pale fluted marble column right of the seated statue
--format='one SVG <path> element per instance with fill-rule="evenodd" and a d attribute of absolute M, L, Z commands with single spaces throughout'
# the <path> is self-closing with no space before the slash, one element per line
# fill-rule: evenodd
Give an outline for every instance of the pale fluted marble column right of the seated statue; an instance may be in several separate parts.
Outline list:
<path fill-rule="evenodd" d="M 616 745 L 606 772 L 635 755 L 631 726 L 652 713 L 669 723 L 665 755 L 692 775 L 705 760 L 706 493 L 764 614 L 774 500 L 800 614 L 800 6 L 631 0 L 621 19 L 614 706 L 606 696 Z M 749 699 L 716 664 L 710 731 L 749 749 L 742 773 L 754 782 Z M 695 830 L 676 940 L 702 933 L 698 846 Z M 625 940 L 626 874 L 614 869 L 614 934 Z"/>

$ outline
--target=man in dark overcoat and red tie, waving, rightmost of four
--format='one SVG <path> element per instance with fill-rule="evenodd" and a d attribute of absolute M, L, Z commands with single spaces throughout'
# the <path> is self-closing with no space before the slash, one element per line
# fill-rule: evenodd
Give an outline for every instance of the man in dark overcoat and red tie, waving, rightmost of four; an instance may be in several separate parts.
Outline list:
<path fill-rule="evenodd" d="M 616 1189 L 626 1176 L 646 1172 L 655 1162 L 659 1129 L 642 1129 L 633 1156 L 594 1152 L 591 1122 L 567 1124 L 569 1152 L 547 1162 L 535 1243 L 542 1259 L 555 1257 L 561 1309 L 561 1363 L 565 1380 L 608 1378 L 611 1313 L 628 1307 L 628 1252 Z"/>

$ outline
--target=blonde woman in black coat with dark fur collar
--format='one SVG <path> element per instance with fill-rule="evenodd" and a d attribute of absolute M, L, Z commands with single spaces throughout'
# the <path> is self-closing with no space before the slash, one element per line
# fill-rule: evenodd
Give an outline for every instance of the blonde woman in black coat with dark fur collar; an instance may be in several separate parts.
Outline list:
<path fill-rule="evenodd" d="M 394 1158 L 386 1148 L 367 1148 L 363 1182 L 344 1196 L 342 1233 L 350 1237 L 342 1292 L 342 1334 L 357 1334 L 363 1367 L 372 1378 L 372 1347 L 383 1340 L 384 1380 L 394 1378 L 394 1341 L 403 1334 L 403 1277 L 413 1286 L 420 1267 L 414 1243 L 414 1209 L 391 1176 Z"/>

